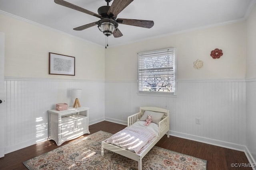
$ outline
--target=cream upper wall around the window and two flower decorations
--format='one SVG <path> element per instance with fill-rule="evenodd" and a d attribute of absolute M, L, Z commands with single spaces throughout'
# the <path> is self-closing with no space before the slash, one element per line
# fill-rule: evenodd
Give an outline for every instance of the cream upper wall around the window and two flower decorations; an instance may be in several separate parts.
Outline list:
<path fill-rule="evenodd" d="M 106 80 L 137 80 L 137 53 L 167 47 L 177 48 L 178 80 L 245 78 L 246 23 L 239 22 L 110 47 Z M 215 48 L 223 50 L 220 59 L 210 57 Z M 197 59 L 204 62 L 200 70 L 194 68 Z"/>

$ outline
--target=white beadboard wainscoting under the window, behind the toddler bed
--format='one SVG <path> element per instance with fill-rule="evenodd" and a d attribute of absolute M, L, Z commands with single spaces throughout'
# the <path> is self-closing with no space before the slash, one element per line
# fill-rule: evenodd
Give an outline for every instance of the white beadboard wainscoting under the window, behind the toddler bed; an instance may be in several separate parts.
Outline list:
<path fill-rule="evenodd" d="M 246 83 L 236 80 L 180 80 L 175 97 L 141 96 L 137 82 L 106 82 L 105 119 L 127 124 L 139 106 L 170 110 L 170 135 L 245 150 Z M 196 124 L 196 118 L 201 124 Z"/>

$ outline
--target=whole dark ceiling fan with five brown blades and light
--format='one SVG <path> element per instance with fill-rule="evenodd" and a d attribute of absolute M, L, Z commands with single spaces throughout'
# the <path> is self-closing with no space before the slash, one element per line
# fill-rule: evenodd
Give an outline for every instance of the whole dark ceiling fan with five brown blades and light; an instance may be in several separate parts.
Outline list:
<path fill-rule="evenodd" d="M 84 12 L 85 14 L 89 14 L 91 16 L 95 16 L 100 18 L 100 20 L 88 23 L 86 25 L 82 25 L 80 27 L 74 28 L 74 30 L 81 31 L 86 28 L 92 27 L 94 25 L 98 25 L 100 31 L 103 32 L 107 37 L 110 35 L 114 35 L 115 38 L 121 37 L 123 34 L 118 29 L 118 23 L 125 25 L 133 25 L 137 27 L 151 28 L 154 25 L 154 21 L 148 20 L 133 20 L 133 19 L 125 19 L 125 18 L 117 18 L 117 15 L 126 8 L 133 0 L 114 0 L 112 5 L 109 6 L 109 2 L 112 0 L 105 0 L 107 2 L 107 6 L 101 6 L 98 8 L 98 14 L 86 10 L 80 6 L 76 6 L 64 0 L 54 0 L 56 4 L 66 6 L 68 8 Z"/>

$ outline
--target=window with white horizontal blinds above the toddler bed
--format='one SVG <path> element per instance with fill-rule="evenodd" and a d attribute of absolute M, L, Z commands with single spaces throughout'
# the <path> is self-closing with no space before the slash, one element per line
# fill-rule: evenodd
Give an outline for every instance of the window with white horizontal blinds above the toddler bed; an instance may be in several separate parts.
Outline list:
<path fill-rule="evenodd" d="M 174 94 L 175 48 L 138 53 L 139 93 Z"/>

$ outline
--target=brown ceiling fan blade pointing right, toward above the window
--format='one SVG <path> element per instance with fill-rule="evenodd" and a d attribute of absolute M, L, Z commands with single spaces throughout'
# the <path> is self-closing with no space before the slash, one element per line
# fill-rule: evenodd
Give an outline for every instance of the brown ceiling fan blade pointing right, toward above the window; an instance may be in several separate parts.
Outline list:
<path fill-rule="evenodd" d="M 133 20 L 133 19 L 118 18 L 116 19 L 116 21 L 121 24 L 133 25 L 133 26 L 144 27 L 144 28 L 151 28 L 154 25 L 154 21 L 148 21 L 148 20 Z"/>

